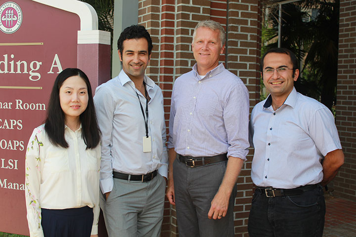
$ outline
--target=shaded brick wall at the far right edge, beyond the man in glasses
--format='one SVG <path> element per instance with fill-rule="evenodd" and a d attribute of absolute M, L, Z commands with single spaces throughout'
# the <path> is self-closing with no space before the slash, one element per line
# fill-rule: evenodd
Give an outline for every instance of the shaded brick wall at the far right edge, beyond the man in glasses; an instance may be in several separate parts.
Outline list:
<path fill-rule="evenodd" d="M 356 200 L 356 0 L 340 0 L 336 125 L 345 163 L 333 181 L 334 193 Z"/>

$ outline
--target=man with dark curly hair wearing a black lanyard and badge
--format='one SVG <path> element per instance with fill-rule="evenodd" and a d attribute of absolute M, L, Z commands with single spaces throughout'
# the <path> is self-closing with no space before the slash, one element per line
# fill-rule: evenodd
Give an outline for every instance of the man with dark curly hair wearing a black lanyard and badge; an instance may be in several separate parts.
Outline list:
<path fill-rule="evenodd" d="M 118 40 L 123 69 L 97 87 L 102 133 L 100 207 L 110 237 L 158 237 L 168 171 L 161 89 L 145 76 L 152 40 L 143 26 Z"/>

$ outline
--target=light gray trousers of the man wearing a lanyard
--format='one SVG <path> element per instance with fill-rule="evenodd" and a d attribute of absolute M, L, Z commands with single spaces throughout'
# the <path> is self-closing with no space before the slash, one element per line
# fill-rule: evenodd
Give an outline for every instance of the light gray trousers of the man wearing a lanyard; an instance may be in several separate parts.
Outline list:
<path fill-rule="evenodd" d="M 165 188 L 166 181 L 160 174 L 144 183 L 114 178 L 108 199 L 100 195 L 109 237 L 159 237 Z"/>

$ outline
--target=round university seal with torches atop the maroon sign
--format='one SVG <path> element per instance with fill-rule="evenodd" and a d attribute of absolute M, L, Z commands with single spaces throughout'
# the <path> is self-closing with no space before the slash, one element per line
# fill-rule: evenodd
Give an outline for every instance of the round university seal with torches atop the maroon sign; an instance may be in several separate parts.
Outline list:
<path fill-rule="evenodd" d="M 22 11 L 15 2 L 8 1 L 0 6 L 0 30 L 6 34 L 17 31 L 22 23 Z"/>

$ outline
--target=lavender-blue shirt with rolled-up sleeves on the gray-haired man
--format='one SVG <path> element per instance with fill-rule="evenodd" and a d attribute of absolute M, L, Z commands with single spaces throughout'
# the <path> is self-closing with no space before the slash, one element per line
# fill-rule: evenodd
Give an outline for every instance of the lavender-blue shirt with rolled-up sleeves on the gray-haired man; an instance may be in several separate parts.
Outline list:
<path fill-rule="evenodd" d="M 171 101 L 168 148 L 183 156 L 246 159 L 249 95 L 223 64 L 199 77 L 193 70 L 176 79 Z"/>

